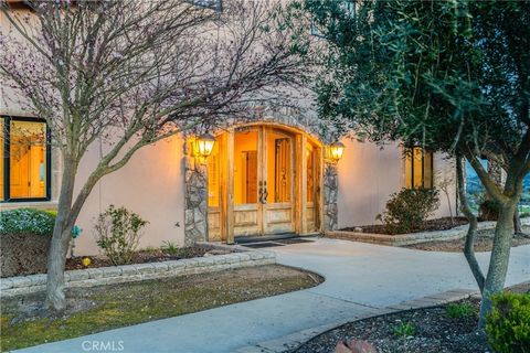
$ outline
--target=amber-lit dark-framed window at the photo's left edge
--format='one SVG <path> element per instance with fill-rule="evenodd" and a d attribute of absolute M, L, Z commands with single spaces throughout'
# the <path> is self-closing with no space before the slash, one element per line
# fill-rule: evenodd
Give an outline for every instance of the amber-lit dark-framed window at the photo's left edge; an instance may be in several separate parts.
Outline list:
<path fill-rule="evenodd" d="M 50 132 L 42 119 L 1 117 L 0 200 L 50 200 Z"/>

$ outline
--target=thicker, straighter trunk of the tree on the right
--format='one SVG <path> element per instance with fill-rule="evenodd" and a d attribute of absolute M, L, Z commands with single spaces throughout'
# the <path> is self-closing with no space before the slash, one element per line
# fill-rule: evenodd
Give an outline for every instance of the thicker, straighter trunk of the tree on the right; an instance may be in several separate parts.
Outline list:
<path fill-rule="evenodd" d="M 479 319 L 480 328 L 484 328 L 486 315 L 491 311 L 491 296 L 502 291 L 505 288 L 511 238 L 513 236 L 513 213 L 516 211 L 517 200 L 519 200 L 519 197 L 512 197 L 507 203 L 504 203 L 499 210 L 499 218 L 495 227 L 494 248 L 483 291 Z"/>

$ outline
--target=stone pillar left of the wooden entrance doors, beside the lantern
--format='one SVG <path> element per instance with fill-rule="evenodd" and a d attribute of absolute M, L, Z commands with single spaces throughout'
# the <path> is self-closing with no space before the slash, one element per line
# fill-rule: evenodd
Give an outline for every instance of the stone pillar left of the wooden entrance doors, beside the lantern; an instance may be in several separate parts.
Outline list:
<path fill-rule="evenodd" d="M 189 151 L 186 158 L 184 245 L 208 239 L 208 169 Z"/>

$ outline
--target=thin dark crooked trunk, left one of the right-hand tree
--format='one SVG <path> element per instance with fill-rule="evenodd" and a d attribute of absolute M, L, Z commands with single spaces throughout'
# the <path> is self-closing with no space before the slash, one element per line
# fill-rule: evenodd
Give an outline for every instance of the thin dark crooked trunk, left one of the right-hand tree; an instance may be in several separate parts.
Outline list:
<path fill-rule="evenodd" d="M 475 237 L 477 235 L 477 217 L 469 207 L 469 203 L 467 202 L 466 195 L 466 188 L 464 183 L 464 171 L 463 171 L 463 159 L 460 157 L 457 158 L 456 161 L 456 178 L 457 178 L 457 188 L 458 188 L 458 196 L 460 199 L 460 211 L 466 216 L 467 221 L 469 222 L 469 228 L 467 229 L 466 234 L 466 245 L 464 247 L 464 256 L 466 257 L 467 264 L 471 270 L 473 277 L 477 281 L 478 288 L 480 292 L 484 290 L 484 274 L 478 265 L 477 257 L 475 256 Z"/>

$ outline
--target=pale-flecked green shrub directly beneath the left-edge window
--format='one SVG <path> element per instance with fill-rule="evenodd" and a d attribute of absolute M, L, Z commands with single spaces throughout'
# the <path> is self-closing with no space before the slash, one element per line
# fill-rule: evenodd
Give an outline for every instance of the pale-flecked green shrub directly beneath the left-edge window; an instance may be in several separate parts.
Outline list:
<path fill-rule="evenodd" d="M 55 214 L 36 208 L 0 212 L 0 234 L 38 234 L 52 236 Z"/>

